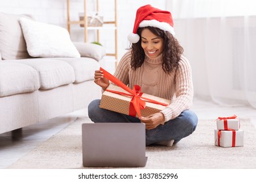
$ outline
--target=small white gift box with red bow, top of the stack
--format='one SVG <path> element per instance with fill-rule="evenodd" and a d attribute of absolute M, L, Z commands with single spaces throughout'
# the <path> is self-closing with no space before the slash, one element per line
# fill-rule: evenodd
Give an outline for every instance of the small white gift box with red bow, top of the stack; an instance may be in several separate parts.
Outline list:
<path fill-rule="evenodd" d="M 231 116 L 227 118 L 219 117 L 216 120 L 218 130 L 239 130 L 240 122 L 236 116 Z"/>

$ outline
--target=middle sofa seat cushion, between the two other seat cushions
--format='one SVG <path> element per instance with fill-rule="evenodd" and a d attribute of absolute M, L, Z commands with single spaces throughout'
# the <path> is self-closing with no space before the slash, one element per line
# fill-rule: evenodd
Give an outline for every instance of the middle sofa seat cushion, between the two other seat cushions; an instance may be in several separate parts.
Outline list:
<path fill-rule="evenodd" d="M 11 61 L 11 60 L 9 60 Z M 23 59 L 12 60 L 33 67 L 38 72 L 40 89 L 51 89 L 61 85 L 74 83 L 75 74 L 67 62 L 53 59 Z"/>

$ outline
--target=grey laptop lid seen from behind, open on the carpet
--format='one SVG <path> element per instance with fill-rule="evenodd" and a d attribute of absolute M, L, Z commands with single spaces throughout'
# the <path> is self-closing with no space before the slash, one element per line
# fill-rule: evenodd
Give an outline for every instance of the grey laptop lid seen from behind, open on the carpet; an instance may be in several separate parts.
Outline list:
<path fill-rule="evenodd" d="M 83 123 L 84 167 L 144 167 L 144 123 Z"/>

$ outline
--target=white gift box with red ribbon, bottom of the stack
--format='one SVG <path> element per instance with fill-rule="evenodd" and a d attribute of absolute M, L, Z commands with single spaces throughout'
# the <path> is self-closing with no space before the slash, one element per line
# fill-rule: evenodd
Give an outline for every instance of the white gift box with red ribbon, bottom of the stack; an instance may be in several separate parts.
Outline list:
<path fill-rule="evenodd" d="M 244 131 L 214 130 L 214 140 L 216 146 L 223 148 L 244 146 Z"/>

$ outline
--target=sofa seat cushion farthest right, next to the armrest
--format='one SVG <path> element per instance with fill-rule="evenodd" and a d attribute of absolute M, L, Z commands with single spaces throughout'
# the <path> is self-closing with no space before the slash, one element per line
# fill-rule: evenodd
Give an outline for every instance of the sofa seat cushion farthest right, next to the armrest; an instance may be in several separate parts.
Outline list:
<path fill-rule="evenodd" d="M 95 70 L 100 69 L 100 64 L 91 58 L 81 57 L 79 59 L 74 59 L 74 58 L 56 58 L 56 59 L 63 60 L 73 67 L 75 77 L 76 77 L 75 83 L 94 80 Z"/>

